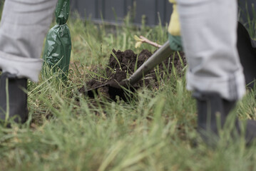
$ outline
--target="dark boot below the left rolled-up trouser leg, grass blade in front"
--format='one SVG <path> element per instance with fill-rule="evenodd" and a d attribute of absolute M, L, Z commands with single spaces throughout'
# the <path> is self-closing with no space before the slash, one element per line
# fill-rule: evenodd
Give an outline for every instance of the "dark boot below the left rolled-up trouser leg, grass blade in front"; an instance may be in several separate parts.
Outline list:
<path fill-rule="evenodd" d="M 11 73 L 2 73 L 0 78 L 1 123 L 6 123 L 12 118 L 16 123 L 26 122 L 29 114 L 27 94 L 24 92 L 26 86 L 26 78 L 17 78 Z"/>

